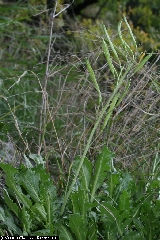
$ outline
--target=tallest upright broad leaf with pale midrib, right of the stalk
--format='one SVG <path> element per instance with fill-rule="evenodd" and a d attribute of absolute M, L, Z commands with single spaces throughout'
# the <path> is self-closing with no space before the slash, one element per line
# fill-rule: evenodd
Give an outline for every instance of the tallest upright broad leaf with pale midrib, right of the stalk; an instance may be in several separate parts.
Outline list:
<path fill-rule="evenodd" d="M 106 178 L 107 171 L 111 171 L 111 160 L 113 153 L 107 147 L 103 147 L 101 153 L 97 157 L 95 164 L 95 172 L 91 179 L 91 202 L 94 200 L 95 193 L 102 186 Z"/>

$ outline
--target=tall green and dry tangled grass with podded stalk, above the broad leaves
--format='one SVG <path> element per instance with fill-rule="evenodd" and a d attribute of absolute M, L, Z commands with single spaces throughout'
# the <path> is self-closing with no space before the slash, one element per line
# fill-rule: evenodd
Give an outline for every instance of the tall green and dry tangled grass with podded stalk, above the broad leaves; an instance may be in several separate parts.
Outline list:
<path fill-rule="evenodd" d="M 102 26 L 94 40 L 92 33 L 85 39 L 86 46 L 82 39 L 81 53 L 74 54 L 76 45 L 73 49 L 60 34 L 54 17 L 53 26 L 44 23 L 41 30 L 19 23 L 14 14 L 12 21 L 4 21 L 3 42 L 5 24 L 10 37 L 1 56 L 1 139 L 8 141 L 9 135 L 22 155 L 42 154 L 56 174 L 67 173 L 76 155 L 83 156 L 82 162 L 86 155 L 94 159 L 103 145 L 116 153 L 121 167 L 148 166 L 158 151 L 159 76 L 156 63 L 149 63 L 152 53 L 141 56 L 125 17 L 123 22 L 125 29 L 120 22 L 117 30 L 119 45 Z M 81 36 L 86 36 L 84 29 Z M 56 51 L 61 44 L 68 52 Z"/>

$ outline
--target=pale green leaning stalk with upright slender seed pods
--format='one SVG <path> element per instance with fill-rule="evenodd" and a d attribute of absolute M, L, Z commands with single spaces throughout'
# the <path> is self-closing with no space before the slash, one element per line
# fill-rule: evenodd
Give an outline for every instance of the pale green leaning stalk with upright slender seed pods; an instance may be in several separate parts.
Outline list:
<path fill-rule="evenodd" d="M 129 33 L 130 33 L 130 35 L 133 39 L 133 42 L 134 42 L 134 44 L 136 44 L 136 41 L 135 41 L 135 39 L 133 37 L 133 34 L 132 34 L 132 31 L 131 31 L 125 17 L 124 17 L 124 20 L 125 20 L 126 25 L 128 27 Z M 128 46 L 128 44 L 123 40 L 122 32 L 121 32 L 121 22 L 120 22 L 119 27 L 118 27 L 118 33 L 119 33 L 120 40 L 122 42 L 124 53 L 120 52 L 119 50 L 117 51 L 117 47 L 114 46 L 113 43 L 111 42 L 105 26 L 104 26 L 104 32 L 106 33 L 106 41 L 105 41 L 105 39 L 102 38 L 103 52 L 104 52 L 104 55 L 106 57 L 106 61 L 108 63 L 110 71 L 111 71 L 111 73 L 114 77 L 114 82 L 115 82 L 114 86 L 115 87 L 114 87 L 114 90 L 111 93 L 108 101 L 106 103 L 105 102 L 103 103 L 101 110 L 97 114 L 98 117 L 95 121 L 94 127 L 93 127 L 93 129 L 92 129 L 92 131 L 89 135 L 88 140 L 87 140 L 86 147 L 84 148 L 84 152 L 83 152 L 83 155 L 81 157 L 81 161 L 79 163 L 79 166 L 77 167 L 77 171 L 75 173 L 74 179 L 73 179 L 68 191 L 66 191 L 66 197 L 65 197 L 64 203 L 62 205 L 61 214 L 63 214 L 66 202 L 67 202 L 67 200 L 68 200 L 68 198 L 71 194 L 72 188 L 73 188 L 73 186 L 74 186 L 74 184 L 77 180 L 80 169 L 83 165 L 83 161 L 86 157 L 86 154 L 87 154 L 89 148 L 92 145 L 93 136 L 96 133 L 96 130 L 99 128 L 99 125 L 102 122 L 102 124 L 101 124 L 102 126 L 100 126 L 100 128 L 99 128 L 99 133 L 98 134 L 100 135 L 104 131 L 105 127 L 108 124 L 109 119 L 111 118 L 111 116 L 113 114 L 114 109 L 121 104 L 123 98 L 125 97 L 125 95 L 128 92 L 128 88 L 129 88 L 129 85 L 130 85 L 130 78 L 134 74 L 136 74 L 144 66 L 144 64 L 148 61 L 148 59 L 152 56 L 152 54 L 149 54 L 138 65 L 135 65 L 136 56 L 133 53 L 132 49 Z M 106 42 L 108 43 L 108 45 L 107 45 Z M 111 55 L 110 55 L 109 47 L 111 48 L 114 57 L 116 58 L 116 60 L 118 60 L 119 63 L 120 63 L 120 60 L 119 60 L 118 54 L 123 55 L 126 58 L 126 62 L 127 62 L 128 66 L 127 66 L 126 69 L 124 69 L 124 67 L 120 65 L 119 73 L 117 73 L 117 71 L 116 71 L 116 69 L 113 65 L 113 60 L 112 60 Z M 101 101 L 102 101 L 102 97 L 101 97 L 101 93 L 100 93 L 100 90 L 99 90 L 99 86 L 98 86 L 96 77 L 94 75 L 94 71 L 92 70 L 89 61 L 87 61 L 87 69 L 89 71 L 89 74 L 90 74 L 90 77 L 91 77 L 92 81 L 94 82 L 95 88 L 98 91 L 99 106 L 100 106 Z M 120 91 L 122 85 L 124 86 L 124 89 L 123 89 L 123 92 L 120 94 L 119 91 Z M 97 136 L 96 136 L 96 138 L 97 138 Z"/>

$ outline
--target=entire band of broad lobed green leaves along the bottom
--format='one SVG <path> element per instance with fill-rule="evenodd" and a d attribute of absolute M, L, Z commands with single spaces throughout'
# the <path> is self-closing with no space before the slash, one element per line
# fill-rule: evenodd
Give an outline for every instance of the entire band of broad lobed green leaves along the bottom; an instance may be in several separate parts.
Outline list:
<path fill-rule="evenodd" d="M 113 159 L 107 147 L 92 164 L 85 158 L 61 217 L 64 196 L 56 195 L 56 187 L 43 165 L 16 169 L 0 163 L 6 175 L 0 207 L 1 232 L 12 236 L 58 234 L 70 240 L 158 239 L 159 156 L 153 164 L 154 175 L 146 176 L 145 181 L 143 176 L 137 179 L 134 173 L 116 169 Z M 80 158 L 75 160 L 72 174 L 78 161 Z"/>

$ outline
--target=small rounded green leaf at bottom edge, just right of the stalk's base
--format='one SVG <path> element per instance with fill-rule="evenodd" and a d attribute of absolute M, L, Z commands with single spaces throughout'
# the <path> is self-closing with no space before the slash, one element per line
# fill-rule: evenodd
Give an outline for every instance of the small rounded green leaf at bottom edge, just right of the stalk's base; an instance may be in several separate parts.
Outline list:
<path fill-rule="evenodd" d="M 79 214 L 72 214 L 69 216 L 69 227 L 76 235 L 76 240 L 85 240 L 87 236 L 86 221 L 83 216 Z"/>

